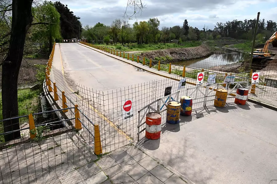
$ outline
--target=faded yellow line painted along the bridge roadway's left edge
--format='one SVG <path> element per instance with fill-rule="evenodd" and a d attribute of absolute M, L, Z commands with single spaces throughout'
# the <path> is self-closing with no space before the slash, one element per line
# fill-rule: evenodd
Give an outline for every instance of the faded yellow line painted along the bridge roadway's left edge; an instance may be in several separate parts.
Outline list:
<path fill-rule="evenodd" d="M 59 51 L 60 51 L 60 61 L 61 61 L 61 64 L 62 64 L 62 54 L 61 54 L 61 49 L 60 49 L 60 47 L 59 47 Z M 63 65 L 62 65 L 62 76 L 64 77 Z M 68 85 L 68 87 L 70 88 L 70 85 Z M 71 91 L 71 92 L 74 92 L 72 88 L 70 88 L 70 91 Z M 75 93 L 75 94 L 76 94 L 76 93 Z M 76 94 L 76 95 L 78 96 L 78 98 L 79 98 L 80 100 L 82 100 L 82 98 L 81 98 L 80 95 L 78 95 L 78 94 Z M 86 103 L 86 101 L 85 101 L 85 103 Z M 88 103 L 86 103 L 86 104 L 88 104 Z M 94 107 L 92 107 L 90 104 L 88 104 L 88 105 L 89 105 L 89 107 L 90 107 L 94 112 L 96 112 L 96 113 L 101 117 L 101 119 L 103 119 L 103 120 L 105 120 L 106 122 L 108 122 L 109 125 L 110 125 L 111 127 L 113 127 L 116 131 L 118 131 L 119 134 L 125 136 L 125 138 L 126 138 L 129 142 L 132 142 L 132 141 L 133 141 L 128 135 L 126 135 L 126 133 L 124 133 L 122 130 L 118 129 L 118 127 L 116 127 L 116 126 L 114 125 L 113 122 L 111 122 L 108 118 L 106 118 L 104 115 L 102 115 L 101 112 L 99 112 L 97 109 L 95 109 Z"/>

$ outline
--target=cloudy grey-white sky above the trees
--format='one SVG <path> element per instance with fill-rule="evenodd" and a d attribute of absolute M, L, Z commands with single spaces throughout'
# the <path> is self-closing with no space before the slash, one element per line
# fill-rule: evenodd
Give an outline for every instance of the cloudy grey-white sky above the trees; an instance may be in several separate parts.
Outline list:
<path fill-rule="evenodd" d="M 82 25 L 93 26 L 97 22 L 110 25 L 121 18 L 127 0 L 60 0 L 81 18 Z M 144 0 L 146 9 L 137 15 L 137 20 L 157 17 L 162 26 L 183 25 L 185 19 L 193 27 L 208 25 L 213 29 L 216 22 L 254 19 L 260 12 L 260 19 L 277 22 L 277 0 Z M 131 9 L 129 11 L 132 11 Z M 135 18 L 129 20 L 131 24 Z"/>

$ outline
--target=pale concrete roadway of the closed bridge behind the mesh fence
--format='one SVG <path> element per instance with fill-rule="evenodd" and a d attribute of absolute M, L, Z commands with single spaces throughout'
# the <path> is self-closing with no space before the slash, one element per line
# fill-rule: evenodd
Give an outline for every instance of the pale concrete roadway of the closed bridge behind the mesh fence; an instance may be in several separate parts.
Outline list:
<path fill-rule="evenodd" d="M 85 87 L 89 87 L 90 90 L 93 88 L 93 90 L 97 91 L 102 90 L 104 93 L 107 92 L 107 89 L 111 88 L 130 86 L 132 84 L 141 84 L 151 80 L 165 79 L 161 76 L 148 72 L 138 71 L 137 68 L 129 64 L 118 61 L 114 58 L 108 57 L 102 53 L 76 43 L 56 44 L 53 66 L 60 71 L 64 70 L 66 76 L 69 76 L 75 82 L 82 84 Z M 57 85 L 59 80 L 61 79 L 56 79 L 55 76 Z M 66 84 L 66 87 L 70 88 L 70 85 Z M 70 90 L 68 91 L 70 92 Z M 71 93 L 73 91 L 74 90 L 71 89 Z M 164 93 L 164 88 L 163 92 L 161 93 Z M 100 123 L 99 127 L 100 134 L 102 136 L 102 144 L 104 149 L 103 152 L 108 152 L 130 143 L 128 141 L 130 137 L 131 139 L 136 139 L 136 134 L 134 133 L 136 130 L 136 117 L 134 116 L 133 119 L 129 121 L 123 121 L 122 114 L 120 114 L 122 113 L 122 100 L 124 100 L 122 96 L 130 97 L 130 94 L 125 91 L 118 92 L 117 94 L 113 95 L 115 97 L 112 97 L 111 95 L 109 97 L 107 97 L 107 95 L 105 96 L 105 98 L 109 98 L 110 100 L 103 99 L 105 101 L 104 106 L 99 105 L 102 103 L 101 100 L 101 102 L 96 102 L 96 105 L 93 105 L 94 103 L 85 105 L 86 107 L 84 107 L 84 105 L 83 107 L 80 107 L 79 105 L 80 108 L 83 108 L 82 111 L 85 112 L 85 114 L 89 116 L 89 118 L 92 119 L 94 123 Z M 134 101 L 136 101 L 135 97 L 139 96 L 138 92 L 131 95 L 132 96 L 130 98 L 133 98 Z M 145 94 L 145 96 L 146 95 L 151 94 Z M 86 94 L 82 92 L 80 92 L 80 96 L 87 98 Z M 99 97 L 99 99 L 100 98 L 102 99 L 102 97 Z M 150 96 L 147 96 L 147 98 L 150 102 Z M 98 100 L 95 99 L 96 97 L 93 97 L 94 102 Z M 86 102 L 83 104 L 86 104 Z M 143 104 L 139 104 L 136 111 L 134 110 L 134 112 L 137 112 L 142 106 Z M 92 110 L 94 108 L 97 112 Z M 103 111 L 104 108 L 105 110 Z M 98 112 L 101 114 L 98 114 Z M 107 119 L 104 121 L 103 115 L 108 117 L 110 121 Z M 87 126 L 91 126 L 89 122 L 87 123 Z M 118 130 L 117 127 L 122 131 Z"/>

